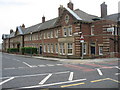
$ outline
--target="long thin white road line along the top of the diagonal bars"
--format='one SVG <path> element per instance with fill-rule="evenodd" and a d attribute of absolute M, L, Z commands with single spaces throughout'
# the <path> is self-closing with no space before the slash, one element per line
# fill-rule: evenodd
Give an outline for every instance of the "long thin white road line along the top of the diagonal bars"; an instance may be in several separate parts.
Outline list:
<path fill-rule="evenodd" d="M 56 73 L 51 73 L 51 74 L 63 74 L 63 73 L 69 73 L 70 71 L 64 71 L 64 72 L 56 72 Z M 42 75 L 48 75 L 50 73 L 44 73 L 44 74 L 33 74 L 33 75 L 22 75 L 22 76 L 14 76 L 15 78 L 19 77 L 33 77 L 33 76 L 42 76 Z M 3 78 L 11 78 L 11 77 L 2 77 Z"/>

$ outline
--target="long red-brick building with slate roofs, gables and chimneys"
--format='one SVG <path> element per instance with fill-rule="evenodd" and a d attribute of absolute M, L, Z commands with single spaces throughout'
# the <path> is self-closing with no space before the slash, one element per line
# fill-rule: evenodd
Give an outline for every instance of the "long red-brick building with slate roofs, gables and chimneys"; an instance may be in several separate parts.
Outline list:
<path fill-rule="evenodd" d="M 107 15 L 107 5 L 101 4 L 101 17 L 80 9 L 70 1 L 60 5 L 58 17 L 36 25 L 18 26 L 16 31 L 3 34 L 3 50 L 36 47 L 38 55 L 60 58 L 119 57 L 119 13 Z M 83 39 L 83 44 L 80 42 Z M 82 54 L 83 53 L 83 54 Z"/>

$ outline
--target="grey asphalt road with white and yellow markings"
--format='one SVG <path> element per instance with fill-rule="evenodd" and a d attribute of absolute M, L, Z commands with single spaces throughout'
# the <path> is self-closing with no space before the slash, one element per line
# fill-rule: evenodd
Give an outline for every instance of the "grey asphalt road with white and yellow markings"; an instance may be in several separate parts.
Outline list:
<path fill-rule="evenodd" d="M 117 61 L 68 64 L 2 54 L 3 89 L 119 88 Z"/>

